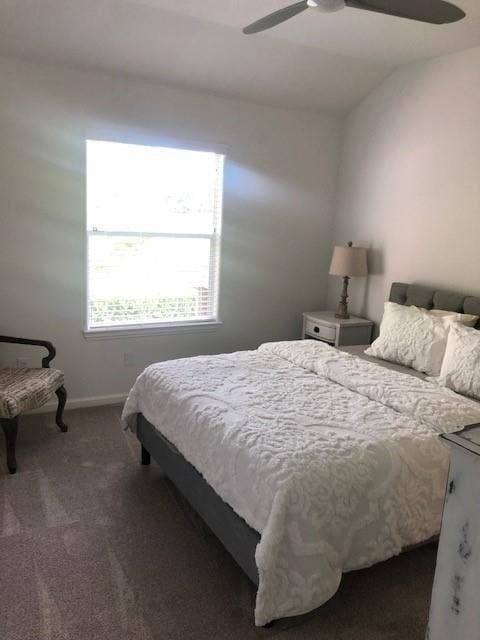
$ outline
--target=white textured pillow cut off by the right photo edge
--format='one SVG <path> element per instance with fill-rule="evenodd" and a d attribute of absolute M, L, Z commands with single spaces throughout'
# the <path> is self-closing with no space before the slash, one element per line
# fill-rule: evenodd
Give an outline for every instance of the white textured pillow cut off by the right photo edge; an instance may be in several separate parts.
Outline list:
<path fill-rule="evenodd" d="M 480 331 L 452 325 L 438 383 L 480 400 Z"/>

